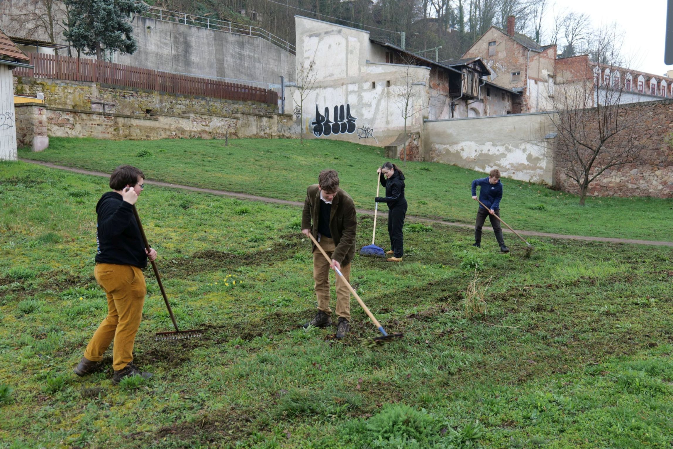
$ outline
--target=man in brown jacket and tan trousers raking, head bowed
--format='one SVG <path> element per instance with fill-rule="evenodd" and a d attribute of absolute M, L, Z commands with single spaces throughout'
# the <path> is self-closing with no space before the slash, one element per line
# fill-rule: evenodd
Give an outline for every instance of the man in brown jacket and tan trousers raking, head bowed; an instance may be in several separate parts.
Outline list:
<path fill-rule="evenodd" d="M 332 258 L 328 263 L 320 250 L 312 245 L 313 279 L 318 297 L 318 313 L 304 324 L 324 327 L 332 324 L 330 309 L 330 269 L 337 268 L 350 281 L 351 261 L 355 256 L 355 231 L 357 216 L 353 199 L 339 188 L 339 174 L 322 170 L 318 184 L 308 186 L 302 213 L 302 232 L 318 240 L 322 249 Z M 347 335 L 351 320 L 351 291 L 341 277 L 336 277 L 336 316 L 339 323 L 336 338 Z"/>

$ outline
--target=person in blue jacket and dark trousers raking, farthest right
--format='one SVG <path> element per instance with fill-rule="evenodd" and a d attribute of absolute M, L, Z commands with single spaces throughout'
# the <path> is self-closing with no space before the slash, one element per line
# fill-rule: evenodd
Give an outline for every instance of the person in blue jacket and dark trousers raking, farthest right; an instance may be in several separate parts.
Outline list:
<path fill-rule="evenodd" d="M 500 182 L 500 170 L 494 168 L 489 173 L 488 178 L 475 179 L 472 181 L 472 199 L 476 201 L 476 187 L 479 186 L 479 201 L 483 205 L 479 205 L 479 211 L 476 213 L 476 224 L 474 225 L 474 245 L 477 248 L 481 246 L 481 228 L 484 226 L 486 217 L 491 220 L 493 226 L 493 233 L 495 240 L 500 245 L 501 252 L 509 252 L 509 248 L 505 246 L 505 239 L 503 238 L 503 230 L 500 226 L 500 220 L 493 215 L 500 216 L 500 200 L 503 197 L 503 184 Z"/>

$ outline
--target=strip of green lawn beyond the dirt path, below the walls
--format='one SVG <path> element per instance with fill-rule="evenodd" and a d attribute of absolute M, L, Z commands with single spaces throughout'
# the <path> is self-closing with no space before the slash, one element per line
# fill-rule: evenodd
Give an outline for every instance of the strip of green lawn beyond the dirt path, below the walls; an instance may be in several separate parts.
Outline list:
<path fill-rule="evenodd" d="M 378 147 L 318 139 L 304 146 L 296 140 L 236 139 L 225 147 L 219 140 L 52 138 L 41 153 L 19 152 L 22 158 L 108 173 L 133 164 L 155 180 L 295 201 L 304 201 L 306 186 L 317 182 L 320 170 L 334 168 L 355 204 L 368 209 L 374 208 L 376 168 L 386 161 L 383 154 Z M 474 223 L 470 182 L 485 174 L 429 162 L 410 162 L 404 174 L 409 215 Z M 590 198 L 581 207 L 575 195 L 528 182 L 503 183 L 502 216 L 515 229 L 673 240 L 673 199 Z"/>

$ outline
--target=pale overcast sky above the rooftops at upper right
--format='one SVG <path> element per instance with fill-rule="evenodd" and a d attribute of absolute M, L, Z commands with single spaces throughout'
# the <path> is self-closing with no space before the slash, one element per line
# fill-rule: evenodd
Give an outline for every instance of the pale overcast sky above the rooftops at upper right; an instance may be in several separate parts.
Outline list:
<path fill-rule="evenodd" d="M 666 0 L 557 0 L 555 9 L 567 7 L 586 13 L 592 18 L 594 27 L 616 22 L 625 32 L 624 50 L 633 57 L 631 67 L 664 75 L 666 70 L 673 69 L 673 65 L 664 64 L 666 4 Z M 550 13 L 546 18 L 551 20 L 552 17 L 553 13 Z"/>

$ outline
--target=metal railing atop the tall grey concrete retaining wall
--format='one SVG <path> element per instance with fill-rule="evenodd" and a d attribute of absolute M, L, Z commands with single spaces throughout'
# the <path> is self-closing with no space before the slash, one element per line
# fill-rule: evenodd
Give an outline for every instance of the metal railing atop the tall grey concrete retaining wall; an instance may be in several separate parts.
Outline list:
<path fill-rule="evenodd" d="M 284 40 L 283 38 L 279 38 L 275 34 L 271 34 L 271 32 L 264 30 L 264 28 L 259 28 L 258 26 L 242 25 L 236 24 L 234 22 L 227 22 L 225 20 L 201 17 L 199 15 L 168 11 L 155 6 L 150 6 L 147 11 L 141 13 L 140 15 L 141 17 L 163 20 L 164 22 L 176 22 L 178 24 L 201 26 L 203 28 L 208 28 L 209 30 L 218 30 L 227 33 L 243 34 L 244 36 L 258 37 L 268 40 L 272 44 L 283 48 L 283 50 L 287 51 L 287 53 L 290 53 L 291 55 L 296 55 L 297 53 L 297 49 L 293 44 L 287 42 L 287 40 Z"/>

